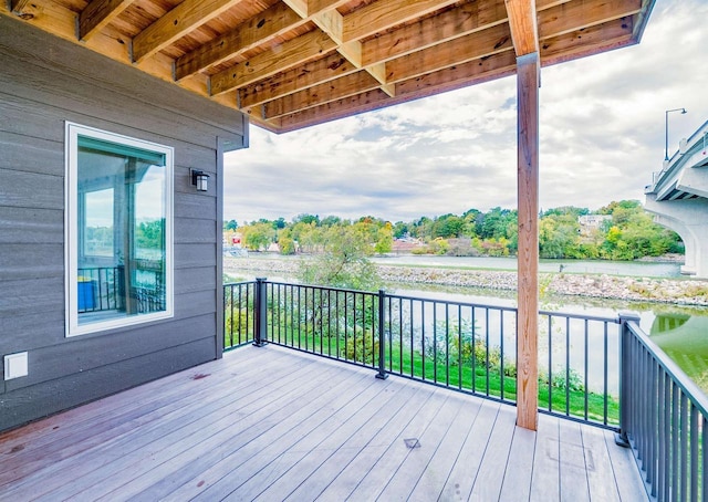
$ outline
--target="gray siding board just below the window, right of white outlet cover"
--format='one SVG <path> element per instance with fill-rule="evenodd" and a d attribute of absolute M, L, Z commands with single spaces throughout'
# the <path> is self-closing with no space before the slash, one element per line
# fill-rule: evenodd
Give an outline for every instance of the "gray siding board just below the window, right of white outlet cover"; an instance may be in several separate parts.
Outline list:
<path fill-rule="evenodd" d="M 180 321 L 178 330 L 175 324 L 150 323 L 108 336 L 75 337 L 70 343 L 37 348 L 29 353 L 29 375 L 9 380 L 8 390 L 115 365 L 144 354 L 165 352 L 201 338 L 214 338 L 216 331 L 214 315 Z"/>

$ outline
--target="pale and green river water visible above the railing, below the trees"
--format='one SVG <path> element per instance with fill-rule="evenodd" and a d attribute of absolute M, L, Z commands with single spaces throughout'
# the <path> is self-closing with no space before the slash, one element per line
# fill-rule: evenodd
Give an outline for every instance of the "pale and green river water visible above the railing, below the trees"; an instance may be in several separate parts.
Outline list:
<path fill-rule="evenodd" d="M 256 258 L 258 255 L 250 255 Z M 268 254 L 263 258 L 273 259 Z M 296 258 L 281 257 L 283 260 Z M 374 258 L 374 262 L 392 265 L 470 268 L 516 270 L 513 258 L 398 255 Z M 676 278 L 678 263 L 608 262 L 576 260 L 541 260 L 542 272 L 615 274 L 629 276 Z M 247 279 L 253 279 L 248 276 Z M 292 278 L 269 276 L 278 281 Z M 479 287 L 391 283 L 387 290 L 438 300 L 488 305 L 516 306 L 516 292 Z M 392 291 L 392 292 L 393 292 Z M 708 307 L 681 306 L 649 302 L 548 295 L 541 297 L 541 308 L 586 315 L 616 316 L 618 312 L 639 314 L 641 326 L 694 381 L 708 394 Z"/>

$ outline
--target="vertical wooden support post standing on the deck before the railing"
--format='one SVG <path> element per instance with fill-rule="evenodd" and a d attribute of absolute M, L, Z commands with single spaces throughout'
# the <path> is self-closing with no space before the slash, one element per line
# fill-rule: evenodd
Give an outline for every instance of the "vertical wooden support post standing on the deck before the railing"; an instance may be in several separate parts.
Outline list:
<path fill-rule="evenodd" d="M 539 53 L 517 57 L 519 313 L 517 425 L 537 429 L 539 408 Z"/>

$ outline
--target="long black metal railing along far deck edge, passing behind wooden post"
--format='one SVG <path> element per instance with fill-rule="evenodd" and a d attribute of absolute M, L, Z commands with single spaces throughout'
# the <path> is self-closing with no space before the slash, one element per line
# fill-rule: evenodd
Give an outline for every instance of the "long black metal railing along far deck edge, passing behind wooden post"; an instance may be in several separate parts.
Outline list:
<path fill-rule="evenodd" d="M 618 430 L 620 321 L 541 312 L 543 412 Z M 516 402 L 517 310 L 268 282 L 225 285 L 225 347 L 273 343 Z"/>

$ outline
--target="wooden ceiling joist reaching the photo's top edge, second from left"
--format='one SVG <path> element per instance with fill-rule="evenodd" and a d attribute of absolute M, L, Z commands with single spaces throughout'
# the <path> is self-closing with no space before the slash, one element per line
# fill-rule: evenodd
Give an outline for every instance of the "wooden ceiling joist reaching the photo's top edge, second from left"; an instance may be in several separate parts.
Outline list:
<path fill-rule="evenodd" d="M 152 56 L 241 1 L 185 0 L 133 39 L 133 61 Z"/>

